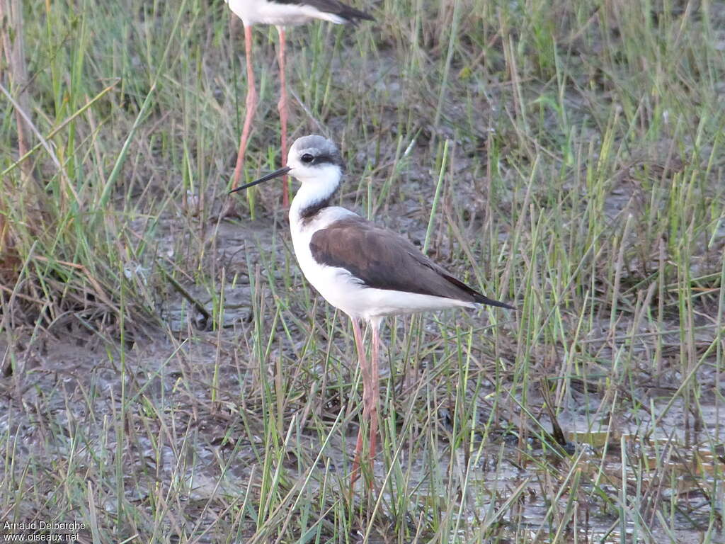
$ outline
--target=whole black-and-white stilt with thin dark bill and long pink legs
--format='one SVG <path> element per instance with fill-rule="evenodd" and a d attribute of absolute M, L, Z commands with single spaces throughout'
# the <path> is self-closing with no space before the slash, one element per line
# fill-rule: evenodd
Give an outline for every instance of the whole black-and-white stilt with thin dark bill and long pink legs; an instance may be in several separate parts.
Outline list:
<path fill-rule="evenodd" d="M 344 207 L 330 205 L 342 178 L 342 157 L 328 139 L 304 136 L 292 144 L 284 168 L 233 191 L 289 173 L 302 183 L 289 208 L 289 226 L 299 268 L 315 289 L 352 320 L 363 374 L 363 419 L 370 423 L 369 459 L 378 430 L 378 353 L 385 316 L 484 304 L 513 309 L 455 279 L 417 247 L 393 231 L 366 221 Z M 365 358 L 360 321 L 373 333 L 370 364 Z M 363 450 L 363 425 L 357 434 L 352 485 Z"/>

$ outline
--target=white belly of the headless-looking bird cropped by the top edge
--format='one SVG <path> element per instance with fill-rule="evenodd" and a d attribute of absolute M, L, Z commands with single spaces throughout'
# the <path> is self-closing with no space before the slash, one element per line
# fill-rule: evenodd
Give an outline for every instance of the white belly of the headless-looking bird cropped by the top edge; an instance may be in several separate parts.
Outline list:
<path fill-rule="evenodd" d="M 305 4 L 277 4 L 267 0 L 227 0 L 229 9 L 244 21 L 244 25 L 302 25 L 312 19 L 344 22 L 341 17 L 320 12 Z"/>

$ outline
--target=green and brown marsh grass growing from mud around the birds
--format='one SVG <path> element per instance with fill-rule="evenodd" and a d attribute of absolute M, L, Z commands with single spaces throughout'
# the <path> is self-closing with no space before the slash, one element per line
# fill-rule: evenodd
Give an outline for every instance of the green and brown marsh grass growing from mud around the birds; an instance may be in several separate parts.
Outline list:
<path fill-rule="evenodd" d="M 22 9 L 27 105 L 0 73 L 3 524 L 718 542 L 721 4 L 381 1 L 375 24 L 291 30 L 293 137 L 341 144 L 339 203 L 517 306 L 388 320 L 381 453 L 352 495 L 349 320 L 297 268 L 280 186 L 215 219 L 239 22 L 199 0 Z M 248 179 L 280 157 L 276 32 L 254 37 Z"/>

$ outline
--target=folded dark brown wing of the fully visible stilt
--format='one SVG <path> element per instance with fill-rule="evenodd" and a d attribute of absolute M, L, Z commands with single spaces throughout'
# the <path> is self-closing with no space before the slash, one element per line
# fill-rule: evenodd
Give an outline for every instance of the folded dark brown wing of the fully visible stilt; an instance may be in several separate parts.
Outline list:
<path fill-rule="evenodd" d="M 315 232 L 310 251 L 318 263 L 344 268 L 366 287 L 512 308 L 471 289 L 407 239 L 363 218 L 341 219 Z"/>

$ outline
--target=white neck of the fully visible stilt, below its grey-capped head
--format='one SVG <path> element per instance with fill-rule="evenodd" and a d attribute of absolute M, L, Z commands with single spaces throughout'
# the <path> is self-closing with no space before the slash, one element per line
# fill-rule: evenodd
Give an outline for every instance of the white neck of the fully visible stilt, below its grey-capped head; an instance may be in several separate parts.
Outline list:
<path fill-rule="evenodd" d="M 323 165 L 314 169 L 305 168 L 305 170 L 310 170 L 309 176 L 306 175 L 306 171 L 300 170 L 302 168 L 291 170 L 291 176 L 302 182 L 302 186 L 294 195 L 289 207 L 289 221 L 293 225 L 309 221 L 320 210 L 328 207 L 342 178 L 342 170 L 337 165 Z"/>

